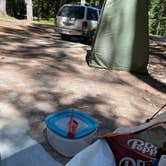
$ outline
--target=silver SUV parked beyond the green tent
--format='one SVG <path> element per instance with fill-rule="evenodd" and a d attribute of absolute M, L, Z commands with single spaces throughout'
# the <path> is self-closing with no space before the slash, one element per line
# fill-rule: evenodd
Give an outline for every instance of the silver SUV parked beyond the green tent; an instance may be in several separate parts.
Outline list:
<path fill-rule="evenodd" d="M 97 28 L 100 9 L 78 4 L 63 5 L 56 16 L 56 30 L 62 38 L 83 36 L 90 42 Z"/>

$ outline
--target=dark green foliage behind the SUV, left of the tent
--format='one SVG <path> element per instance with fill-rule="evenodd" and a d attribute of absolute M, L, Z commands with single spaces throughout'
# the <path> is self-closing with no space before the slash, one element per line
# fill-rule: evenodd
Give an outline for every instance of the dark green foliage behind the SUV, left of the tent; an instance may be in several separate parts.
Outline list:
<path fill-rule="evenodd" d="M 64 3 L 80 2 L 81 0 L 32 0 L 33 15 L 38 20 L 55 18 L 60 6 Z M 18 19 L 26 18 L 25 0 L 6 0 L 7 13 Z M 87 0 L 87 4 L 96 6 L 103 0 Z"/>

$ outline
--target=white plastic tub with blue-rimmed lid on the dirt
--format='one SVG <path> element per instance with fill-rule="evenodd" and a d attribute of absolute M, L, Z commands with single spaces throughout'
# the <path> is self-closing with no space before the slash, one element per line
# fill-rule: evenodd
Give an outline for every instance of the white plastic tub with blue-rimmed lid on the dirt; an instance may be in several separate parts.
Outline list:
<path fill-rule="evenodd" d="M 74 156 L 91 144 L 96 137 L 98 127 L 97 121 L 92 117 L 82 112 L 74 111 L 74 119 L 78 122 L 78 128 L 76 130 L 75 137 L 72 139 L 68 138 L 65 133 L 67 133 L 68 130 L 68 121 L 70 119 L 71 112 L 73 112 L 73 110 L 57 112 L 49 115 L 45 120 L 49 144 L 57 152 L 66 157 Z"/>

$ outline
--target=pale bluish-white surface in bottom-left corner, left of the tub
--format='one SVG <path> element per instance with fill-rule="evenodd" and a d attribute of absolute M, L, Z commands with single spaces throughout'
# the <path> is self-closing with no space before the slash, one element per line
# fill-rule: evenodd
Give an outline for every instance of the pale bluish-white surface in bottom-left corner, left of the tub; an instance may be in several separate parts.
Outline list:
<path fill-rule="evenodd" d="M 18 125 L 0 129 L 0 166 L 62 166 Z"/>

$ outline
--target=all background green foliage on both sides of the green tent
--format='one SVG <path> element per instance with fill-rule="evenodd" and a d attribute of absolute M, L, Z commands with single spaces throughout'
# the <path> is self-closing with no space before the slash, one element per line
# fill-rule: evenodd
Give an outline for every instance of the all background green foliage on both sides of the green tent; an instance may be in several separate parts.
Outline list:
<path fill-rule="evenodd" d="M 37 20 L 55 18 L 60 6 L 64 3 L 80 2 L 81 0 L 33 0 L 33 14 Z M 92 6 L 102 6 L 104 0 L 86 0 Z M 149 1 L 149 32 L 166 36 L 166 0 Z M 18 18 L 26 18 L 25 0 L 6 0 L 7 14 Z"/>

